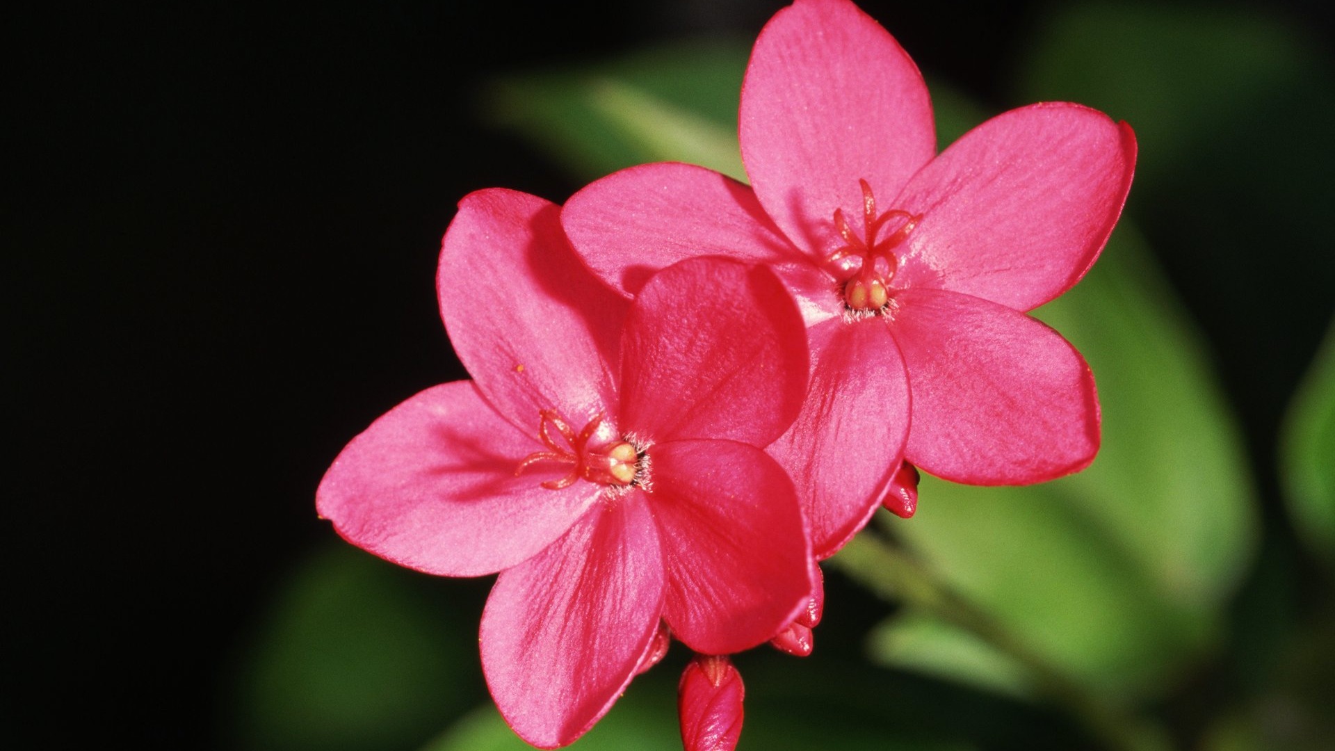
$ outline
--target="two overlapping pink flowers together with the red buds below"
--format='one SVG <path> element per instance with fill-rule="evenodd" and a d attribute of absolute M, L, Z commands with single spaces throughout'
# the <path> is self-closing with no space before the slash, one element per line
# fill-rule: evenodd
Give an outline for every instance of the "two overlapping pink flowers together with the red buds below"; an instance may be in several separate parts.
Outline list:
<path fill-rule="evenodd" d="M 539 747 L 591 727 L 669 635 L 706 655 L 688 747 L 732 747 L 718 656 L 809 649 L 814 561 L 882 502 L 910 514 L 914 465 L 1020 484 L 1097 450 L 1088 366 L 1025 311 L 1112 231 L 1129 127 L 1036 104 L 937 155 L 921 75 L 848 0 L 770 20 L 740 120 L 752 187 L 647 164 L 563 208 L 465 198 L 438 291 L 474 380 L 378 420 L 318 492 L 391 561 L 501 572 L 483 668 Z"/>

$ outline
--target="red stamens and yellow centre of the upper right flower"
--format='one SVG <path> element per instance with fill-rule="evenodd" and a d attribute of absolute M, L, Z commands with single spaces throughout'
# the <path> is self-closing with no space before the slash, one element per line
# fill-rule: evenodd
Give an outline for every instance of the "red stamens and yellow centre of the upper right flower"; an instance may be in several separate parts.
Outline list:
<path fill-rule="evenodd" d="M 844 245 L 825 257 L 825 262 L 836 278 L 842 277 L 845 307 L 854 313 L 880 313 L 890 301 L 890 279 L 900 267 L 893 250 L 909 237 L 922 215 L 898 208 L 877 214 L 872 186 L 866 180 L 857 183 L 862 186 L 862 235 L 849 226 L 844 210 L 836 208 L 834 229 Z"/>

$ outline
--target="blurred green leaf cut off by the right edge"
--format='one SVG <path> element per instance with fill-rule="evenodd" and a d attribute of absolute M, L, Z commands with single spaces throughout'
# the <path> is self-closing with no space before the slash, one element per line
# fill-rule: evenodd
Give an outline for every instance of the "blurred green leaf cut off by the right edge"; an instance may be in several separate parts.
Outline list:
<path fill-rule="evenodd" d="M 1335 322 L 1290 405 L 1280 448 L 1294 525 L 1335 565 Z"/>

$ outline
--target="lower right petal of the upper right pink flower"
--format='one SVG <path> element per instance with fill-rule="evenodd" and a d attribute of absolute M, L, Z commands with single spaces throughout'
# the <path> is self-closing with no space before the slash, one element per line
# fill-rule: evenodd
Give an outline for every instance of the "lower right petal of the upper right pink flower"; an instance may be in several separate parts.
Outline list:
<path fill-rule="evenodd" d="M 1093 374 L 1060 334 L 957 293 L 909 290 L 896 299 L 892 331 L 913 389 L 908 461 L 973 485 L 1040 482 L 1093 461 Z"/>

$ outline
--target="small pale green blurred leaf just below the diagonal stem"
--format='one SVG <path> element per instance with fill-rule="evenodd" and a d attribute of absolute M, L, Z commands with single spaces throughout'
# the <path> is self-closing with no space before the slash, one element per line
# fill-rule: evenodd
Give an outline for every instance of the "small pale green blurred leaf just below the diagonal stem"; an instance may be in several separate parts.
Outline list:
<path fill-rule="evenodd" d="M 977 635 L 940 619 L 900 613 L 872 632 L 877 661 L 1016 698 L 1035 695 L 1029 669 Z"/>

